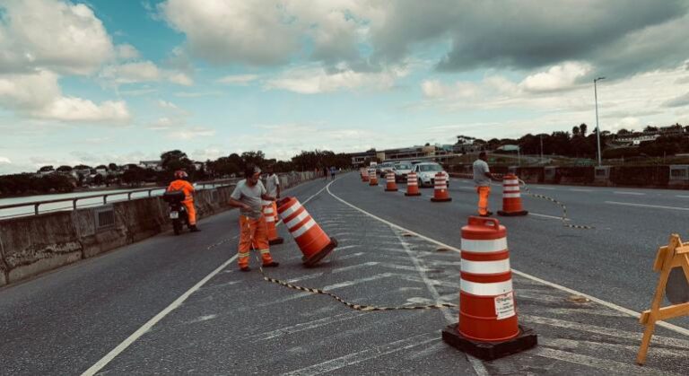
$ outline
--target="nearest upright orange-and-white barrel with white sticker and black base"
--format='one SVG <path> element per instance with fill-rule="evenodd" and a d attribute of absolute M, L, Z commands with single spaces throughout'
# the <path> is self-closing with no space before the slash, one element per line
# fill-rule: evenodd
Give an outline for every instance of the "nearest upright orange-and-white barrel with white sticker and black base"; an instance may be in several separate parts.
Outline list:
<path fill-rule="evenodd" d="M 519 326 L 507 230 L 494 218 L 471 216 L 462 227 L 459 323 L 443 329 L 442 340 L 483 360 L 538 343 L 533 330 Z"/>

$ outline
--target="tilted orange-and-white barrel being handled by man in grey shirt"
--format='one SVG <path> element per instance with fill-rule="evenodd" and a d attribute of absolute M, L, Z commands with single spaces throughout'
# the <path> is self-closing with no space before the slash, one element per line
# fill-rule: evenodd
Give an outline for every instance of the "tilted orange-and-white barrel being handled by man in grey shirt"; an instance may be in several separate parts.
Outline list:
<path fill-rule="evenodd" d="M 337 240 L 323 232 L 295 197 L 285 197 L 277 204 L 277 212 L 304 255 L 305 266 L 315 266 L 337 247 Z"/>

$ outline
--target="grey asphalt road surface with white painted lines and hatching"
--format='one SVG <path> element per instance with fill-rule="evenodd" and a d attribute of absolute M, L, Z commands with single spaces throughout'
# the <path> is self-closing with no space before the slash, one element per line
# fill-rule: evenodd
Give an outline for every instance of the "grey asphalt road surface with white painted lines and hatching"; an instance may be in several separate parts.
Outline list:
<path fill-rule="evenodd" d="M 273 254 L 282 265 L 267 270 L 269 275 L 324 288 L 359 304 L 457 302 L 459 255 L 439 250 L 437 242 L 458 248 L 459 228 L 475 210 L 470 184 L 453 179 L 450 203 L 431 203 L 432 189 L 423 189 L 424 197 L 383 192 L 382 185 L 368 187 L 356 174 L 323 188 L 326 182 L 318 180 L 289 194 L 309 200 L 307 209 L 339 241 L 338 249 L 319 267 L 305 269 L 300 251 L 281 226 L 286 241 Z M 625 308 L 646 309 L 656 283 L 650 270 L 655 249 L 669 232 L 681 233 L 675 221 L 686 213 L 606 201 L 681 207 L 677 203 L 689 198 L 674 191 L 677 202 L 667 195 L 655 197 L 659 191 L 533 189 L 566 202 L 572 223 L 597 228 L 563 228 L 548 217 L 559 215 L 556 206 L 525 198 L 528 210 L 548 216 L 502 221 L 508 227 L 512 267 Z M 499 193 L 496 187 L 493 208 Z M 236 211 L 200 226 L 203 232 L 162 234 L 0 290 L 0 373 L 689 371 L 686 332 L 658 328 L 647 366 L 637 367 L 633 359 L 641 327 L 636 319 L 595 302 L 572 302 L 571 293 L 519 275 L 514 282 L 520 323 L 536 330 L 540 345 L 479 362 L 440 340 L 440 329 L 457 321 L 457 310 L 365 313 L 327 296 L 269 284 L 257 271 L 236 270 Z"/>

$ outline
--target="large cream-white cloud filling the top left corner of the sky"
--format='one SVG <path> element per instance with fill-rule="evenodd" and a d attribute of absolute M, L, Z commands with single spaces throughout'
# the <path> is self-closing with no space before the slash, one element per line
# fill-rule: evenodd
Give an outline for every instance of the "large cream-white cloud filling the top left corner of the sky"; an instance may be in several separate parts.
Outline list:
<path fill-rule="evenodd" d="M 57 0 L 0 4 L 0 70 L 92 74 L 115 55 L 102 22 L 85 4 Z"/>

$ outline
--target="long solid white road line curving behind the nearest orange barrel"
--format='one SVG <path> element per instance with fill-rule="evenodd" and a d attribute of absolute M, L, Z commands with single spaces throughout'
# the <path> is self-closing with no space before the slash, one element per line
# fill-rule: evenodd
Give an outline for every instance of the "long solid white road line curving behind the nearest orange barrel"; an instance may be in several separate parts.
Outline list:
<path fill-rule="evenodd" d="M 415 235 L 415 236 L 417 236 L 417 237 L 419 237 L 419 238 L 421 238 L 421 239 L 423 239 L 423 240 L 428 240 L 428 241 L 432 242 L 433 244 L 437 244 L 437 245 L 439 245 L 440 247 L 445 247 L 445 248 L 454 250 L 455 252 L 461 252 L 461 250 L 459 250 L 459 249 L 457 249 L 457 248 L 455 248 L 455 247 L 452 247 L 452 246 L 450 246 L 450 245 L 448 245 L 448 244 L 445 244 L 445 243 L 443 243 L 443 242 L 441 242 L 441 241 L 434 240 L 434 239 L 432 239 L 432 238 L 429 238 L 429 237 L 427 237 L 427 236 L 424 236 L 424 235 L 422 235 L 422 234 L 420 234 L 420 233 L 418 233 L 418 232 L 414 232 L 414 231 L 412 231 L 412 230 L 406 229 L 405 227 L 402 227 L 402 226 L 397 225 L 397 224 L 395 224 L 395 223 L 391 223 L 391 222 L 389 222 L 389 221 L 386 221 L 386 220 L 380 218 L 379 216 L 377 216 L 377 215 L 375 215 L 375 214 L 371 214 L 371 213 L 369 213 L 369 212 L 363 210 L 362 208 L 360 208 L 360 207 L 358 207 L 358 206 L 355 206 L 355 205 L 352 205 L 352 204 L 348 203 L 348 202 L 345 201 L 344 199 L 342 199 L 342 198 L 340 198 L 340 197 L 337 197 L 333 192 L 331 192 L 331 191 L 330 191 L 330 185 L 332 185 L 332 183 L 331 183 L 331 184 L 328 184 L 328 185 L 326 186 L 327 193 L 328 193 L 330 196 L 335 197 L 336 200 L 338 200 L 339 202 L 341 202 L 341 203 L 343 203 L 343 204 L 345 204 L 345 205 L 347 205 L 347 206 L 349 206 L 349 207 L 351 207 L 351 208 L 353 208 L 353 209 L 356 209 L 356 210 L 362 212 L 363 214 L 366 214 L 366 215 L 370 216 L 371 218 L 378 220 L 379 222 L 386 223 L 386 224 L 388 224 L 389 226 L 392 226 L 392 227 L 394 227 L 394 228 L 396 228 L 396 229 L 398 229 L 398 230 L 402 230 L 402 231 L 404 231 L 404 232 L 409 232 L 409 233 L 411 233 L 411 234 L 413 234 L 413 235 Z M 606 201 L 606 203 L 610 203 L 610 202 L 609 202 L 609 201 Z M 624 203 L 623 203 L 623 205 L 624 205 Z M 689 210 L 689 209 L 684 209 L 684 210 Z M 615 304 L 615 303 L 613 303 L 613 302 L 606 302 L 606 301 L 604 301 L 604 300 L 602 300 L 602 299 L 599 299 L 599 298 L 597 298 L 597 297 L 595 297 L 595 296 L 592 296 L 592 295 L 589 295 L 589 294 L 587 294 L 587 293 L 581 293 L 581 292 L 576 291 L 576 290 L 573 290 L 573 289 L 571 289 L 571 288 L 569 288 L 569 287 L 565 287 L 565 286 L 563 286 L 563 285 L 561 285 L 561 284 L 554 284 L 554 283 L 552 283 L 552 282 L 545 281 L 544 279 L 538 278 L 538 277 L 536 277 L 536 276 L 534 276 L 534 275 L 528 275 L 528 274 L 526 274 L 526 273 L 520 272 L 520 271 L 517 270 L 517 269 L 512 269 L 512 273 L 514 273 L 515 275 L 523 276 L 523 277 L 525 277 L 525 278 L 528 278 L 528 279 L 530 279 L 530 280 L 532 280 L 532 281 L 535 281 L 535 282 L 538 282 L 538 283 L 540 283 L 540 284 L 545 284 L 545 285 L 554 287 L 554 288 L 556 288 L 556 289 L 558 289 L 558 290 L 562 290 L 563 292 L 566 292 L 566 293 L 572 293 L 572 294 L 577 294 L 577 295 L 581 295 L 581 296 L 587 297 L 587 298 L 589 298 L 589 300 L 591 300 L 591 301 L 593 301 L 593 302 L 597 302 L 598 304 L 604 305 L 604 306 L 606 306 L 607 308 L 610 308 L 610 309 L 613 309 L 613 310 L 617 310 L 617 311 L 623 312 L 623 313 L 625 313 L 625 314 L 627 314 L 627 315 L 629 315 L 629 316 L 632 316 L 632 317 L 634 317 L 634 318 L 637 318 L 637 319 L 638 319 L 638 318 L 641 316 L 641 314 L 640 314 L 639 312 L 636 312 L 636 311 L 634 311 L 634 310 L 630 310 L 630 309 L 628 309 L 628 308 L 624 308 L 624 307 L 619 306 L 619 305 L 617 305 L 617 304 Z M 657 322 L 657 325 L 658 325 L 659 327 L 663 327 L 663 328 L 667 328 L 667 329 L 670 329 L 670 330 L 674 330 L 674 331 L 676 331 L 677 333 L 681 333 L 681 334 L 683 334 L 683 335 L 685 335 L 685 336 L 689 336 L 689 329 L 682 328 L 682 327 L 678 327 L 678 326 L 676 326 L 676 325 L 669 324 L 669 323 L 667 323 L 667 322 L 665 322 L 665 321 L 658 321 L 658 322 Z"/>

